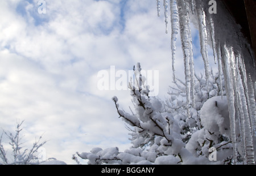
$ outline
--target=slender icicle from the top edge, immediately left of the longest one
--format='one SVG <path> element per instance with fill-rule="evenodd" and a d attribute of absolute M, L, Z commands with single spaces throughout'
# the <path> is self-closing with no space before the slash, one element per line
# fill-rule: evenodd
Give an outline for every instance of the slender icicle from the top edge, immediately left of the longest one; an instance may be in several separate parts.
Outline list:
<path fill-rule="evenodd" d="M 176 75 L 175 75 L 175 54 L 176 54 L 176 40 L 177 34 L 179 31 L 179 16 L 177 10 L 177 1 L 170 0 L 170 11 L 171 11 L 171 50 L 172 50 L 172 73 L 174 82 L 176 82 Z"/>

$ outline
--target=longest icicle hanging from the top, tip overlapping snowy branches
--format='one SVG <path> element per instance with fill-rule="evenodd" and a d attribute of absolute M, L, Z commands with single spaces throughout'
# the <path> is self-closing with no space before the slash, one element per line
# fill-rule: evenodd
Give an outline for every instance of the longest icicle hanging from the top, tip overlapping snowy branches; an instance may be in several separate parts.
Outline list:
<path fill-rule="evenodd" d="M 185 84 L 187 93 L 187 113 L 190 117 L 189 106 L 191 105 L 191 30 L 189 26 L 188 2 L 177 1 L 179 11 L 180 37 L 184 55 Z"/>

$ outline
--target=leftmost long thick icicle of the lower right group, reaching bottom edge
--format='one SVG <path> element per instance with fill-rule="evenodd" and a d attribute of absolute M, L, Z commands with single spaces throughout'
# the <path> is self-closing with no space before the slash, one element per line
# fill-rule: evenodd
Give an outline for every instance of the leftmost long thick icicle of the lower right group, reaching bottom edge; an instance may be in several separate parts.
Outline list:
<path fill-rule="evenodd" d="M 226 84 L 226 94 L 228 98 L 228 109 L 229 109 L 229 121 L 230 121 L 230 136 L 233 144 L 233 162 L 237 164 L 237 144 L 236 144 L 236 109 L 234 101 L 234 88 L 233 88 L 233 79 L 232 72 L 230 70 L 230 54 L 226 46 L 221 46 L 221 52 L 223 57 L 222 60 L 222 69 L 225 76 Z"/>

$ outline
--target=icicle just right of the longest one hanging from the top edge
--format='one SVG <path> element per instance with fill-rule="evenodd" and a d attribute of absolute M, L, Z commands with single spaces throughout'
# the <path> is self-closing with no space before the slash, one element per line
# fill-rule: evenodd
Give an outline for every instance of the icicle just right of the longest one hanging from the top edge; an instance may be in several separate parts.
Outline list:
<path fill-rule="evenodd" d="M 205 12 L 202 7 L 196 8 L 197 18 L 199 20 L 199 35 L 200 35 L 200 45 L 201 45 L 201 54 L 204 60 L 204 69 L 205 69 L 205 78 L 207 82 L 210 77 L 210 68 L 208 60 L 208 51 L 207 51 L 207 27 L 205 22 Z"/>

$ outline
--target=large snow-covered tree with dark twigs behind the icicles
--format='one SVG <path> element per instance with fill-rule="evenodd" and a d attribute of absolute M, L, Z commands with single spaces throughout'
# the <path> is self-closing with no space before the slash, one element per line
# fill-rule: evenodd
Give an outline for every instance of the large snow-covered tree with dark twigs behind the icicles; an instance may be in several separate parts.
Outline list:
<path fill-rule="evenodd" d="M 139 70 L 138 63 L 134 74 L 141 78 Z M 170 87 L 170 98 L 166 102 L 148 96 L 150 90 L 142 87 L 141 79 L 136 80 L 129 84 L 134 105 L 134 110 L 130 108 L 131 114 L 119 107 L 117 97 L 112 98 L 119 118 L 130 131 L 133 147 L 125 152 L 119 152 L 117 147 L 94 148 L 91 152 L 77 152 L 73 160 L 80 163 L 77 159 L 80 157 L 88 160 L 88 164 L 210 164 L 208 149 L 215 147 L 221 154 L 217 163 L 230 162 L 232 144 L 228 123 L 224 120 L 228 118 L 226 99 L 223 95 L 222 100 L 219 91 L 214 91 L 220 87 L 218 74 L 210 72 L 208 81 L 196 76 L 196 106 L 190 106 L 190 118 L 186 96 L 180 93 L 185 91 L 185 84 L 179 78 L 176 78 L 176 87 Z"/>

